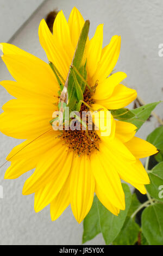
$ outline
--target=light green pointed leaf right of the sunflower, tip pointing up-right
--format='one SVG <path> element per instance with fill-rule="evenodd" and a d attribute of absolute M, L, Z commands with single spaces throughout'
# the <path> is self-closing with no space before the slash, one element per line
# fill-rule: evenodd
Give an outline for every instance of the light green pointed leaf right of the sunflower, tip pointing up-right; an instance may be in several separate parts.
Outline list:
<path fill-rule="evenodd" d="M 145 123 L 145 121 L 149 118 L 151 115 L 151 112 L 153 109 L 160 103 L 159 102 L 153 102 L 149 103 L 147 105 L 144 105 L 142 107 L 136 108 L 136 109 L 131 109 L 130 111 L 135 114 L 135 117 L 127 119 L 126 121 L 134 124 L 137 127 L 137 130 L 140 129 L 140 127 Z"/>

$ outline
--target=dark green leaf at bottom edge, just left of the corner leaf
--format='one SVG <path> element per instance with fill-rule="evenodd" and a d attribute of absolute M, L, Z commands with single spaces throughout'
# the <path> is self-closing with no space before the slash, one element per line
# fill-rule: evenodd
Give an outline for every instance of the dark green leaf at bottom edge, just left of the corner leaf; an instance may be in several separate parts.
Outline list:
<path fill-rule="evenodd" d="M 139 225 L 137 225 L 133 218 L 128 216 L 113 245 L 135 245 L 139 231 Z"/>

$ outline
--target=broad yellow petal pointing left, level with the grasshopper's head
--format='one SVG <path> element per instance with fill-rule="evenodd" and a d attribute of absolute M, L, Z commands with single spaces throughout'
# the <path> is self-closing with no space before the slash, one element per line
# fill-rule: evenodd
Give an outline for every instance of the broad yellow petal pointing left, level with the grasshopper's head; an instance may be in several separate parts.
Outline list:
<path fill-rule="evenodd" d="M 0 130 L 7 136 L 34 138 L 52 128 L 49 121 L 57 109 L 52 103 L 34 100 L 10 100 L 0 115 Z"/>

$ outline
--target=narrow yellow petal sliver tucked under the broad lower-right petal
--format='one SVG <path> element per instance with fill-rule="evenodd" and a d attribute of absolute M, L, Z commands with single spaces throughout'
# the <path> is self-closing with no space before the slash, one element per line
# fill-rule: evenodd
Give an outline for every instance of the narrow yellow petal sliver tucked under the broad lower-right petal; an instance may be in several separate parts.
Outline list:
<path fill-rule="evenodd" d="M 96 182 L 95 186 L 95 193 L 100 200 L 100 202 L 105 206 L 106 209 L 108 209 L 112 214 L 118 215 L 120 212 L 120 209 L 116 208 L 114 205 L 112 205 L 106 196 L 106 194 L 103 193 L 101 188 L 98 186 L 98 183 Z M 109 196 L 109 195 L 108 195 Z"/>

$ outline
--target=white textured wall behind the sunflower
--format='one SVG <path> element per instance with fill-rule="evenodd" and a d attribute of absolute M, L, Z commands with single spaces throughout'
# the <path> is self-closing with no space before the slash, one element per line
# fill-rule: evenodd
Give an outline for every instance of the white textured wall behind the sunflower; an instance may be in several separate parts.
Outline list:
<path fill-rule="evenodd" d="M 122 36 L 121 54 L 116 68 L 127 72 L 126 82 L 129 86 L 137 89 L 146 102 L 162 100 L 163 57 L 158 56 L 158 45 L 163 43 L 161 0 L 48 0 L 12 40 L 12 44 L 46 60 L 37 36 L 40 20 L 54 8 L 63 9 L 68 17 L 74 5 L 81 11 L 84 19 L 90 19 L 91 35 L 99 23 L 104 23 L 104 45 L 108 44 L 112 35 Z M 10 75 L 0 60 L 0 80 L 9 78 Z M 10 98 L 0 87 L 0 105 Z M 162 116 L 162 106 L 158 106 L 155 112 Z M 152 118 L 139 131 L 139 136 L 146 138 L 156 126 L 157 123 Z M 2 134 L 0 141 L 2 163 L 18 141 Z M 36 214 L 33 195 L 22 196 L 23 183 L 32 172 L 17 180 L 3 180 L 7 167 L 8 164 L 0 170 L 0 185 L 4 189 L 4 199 L 0 199 L 0 244 L 79 245 L 83 225 L 74 220 L 70 208 L 55 222 L 51 222 L 49 207 Z M 102 245 L 102 236 L 98 235 L 90 243 Z"/>

